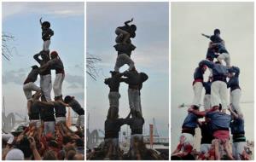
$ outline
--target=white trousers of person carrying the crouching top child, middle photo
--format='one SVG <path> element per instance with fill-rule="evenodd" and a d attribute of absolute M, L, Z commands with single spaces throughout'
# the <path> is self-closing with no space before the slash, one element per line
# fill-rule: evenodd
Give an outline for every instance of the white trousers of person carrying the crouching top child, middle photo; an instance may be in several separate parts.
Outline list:
<path fill-rule="evenodd" d="M 123 67 L 125 64 L 129 66 L 128 70 L 131 70 L 134 67 L 134 62 L 131 60 L 131 58 L 128 55 L 126 54 L 118 55 L 115 62 L 114 71 L 119 72 L 119 68 Z"/>

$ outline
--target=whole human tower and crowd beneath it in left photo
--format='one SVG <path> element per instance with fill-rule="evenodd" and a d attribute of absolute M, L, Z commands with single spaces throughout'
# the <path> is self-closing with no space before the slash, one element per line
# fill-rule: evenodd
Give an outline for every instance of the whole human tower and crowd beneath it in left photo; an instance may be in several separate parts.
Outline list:
<path fill-rule="evenodd" d="M 60 55 L 49 51 L 50 38 L 54 32 L 49 21 L 42 22 L 43 50 L 33 55 L 38 65 L 32 66 L 23 84 L 27 100 L 30 124 L 20 132 L 3 133 L 2 159 L 84 159 L 84 108 L 74 96 L 63 100 L 62 83 L 65 71 Z M 55 70 L 55 81 L 51 84 L 51 70 Z M 40 76 L 40 85 L 35 82 Z M 51 90 L 54 101 L 51 100 Z M 78 115 L 76 131 L 70 130 L 66 107 Z"/>

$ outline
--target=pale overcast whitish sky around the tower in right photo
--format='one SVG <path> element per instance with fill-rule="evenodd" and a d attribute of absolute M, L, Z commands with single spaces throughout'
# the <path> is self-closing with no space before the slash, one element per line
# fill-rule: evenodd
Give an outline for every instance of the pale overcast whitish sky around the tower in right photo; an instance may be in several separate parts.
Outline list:
<path fill-rule="evenodd" d="M 241 111 L 245 118 L 246 137 L 253 141 L 253 20 L 253 3 L 172 3 L 172 151 L 177 147 L 183 119 L 187 115 L 186 108 L 177 107 L 182 103 L 191 104 L 193 73 L 207 53 L 209 41 L 201 33 L 210 35 L 215 28 L 221 31 L 230 52 L 231 65 L 241 69 L 241 101 L 250 102 L 241 103 Z"/>

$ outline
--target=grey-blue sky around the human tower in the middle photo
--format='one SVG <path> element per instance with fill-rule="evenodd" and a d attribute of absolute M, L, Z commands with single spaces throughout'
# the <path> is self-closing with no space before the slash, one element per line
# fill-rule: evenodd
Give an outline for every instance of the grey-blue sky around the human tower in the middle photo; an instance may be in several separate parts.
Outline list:
<path fill-rule="evenodd" d="M 87 3 L 87 51 L 102 61 L 96 63 L 96 81 L 87 78 L 87 114 L 90 114 L 90 130 L 104 130 L 108 113 L 108 86 L 104 78 L 109 78 L 113 70 L 117 52 L 115 29 L 123 26 L 125 20 L 134 18 L 137 36 L 132 43 L 137 49 L 132 52 L 138 72 L 146 72 L 148 80 L 141 91 L 145 134 L 153 118 L 160 136 L 168 137 L 169 123 L 169 17 L 168 3 Z M 120 72 L 128 69 L 124 66 Z M 130 111 L 127 84 L 121 84 L 119 93 L 119 117 L 125 118 Z M 123 126 L 126 129 L 126 126 Z"/>

